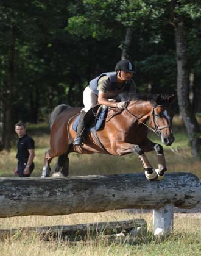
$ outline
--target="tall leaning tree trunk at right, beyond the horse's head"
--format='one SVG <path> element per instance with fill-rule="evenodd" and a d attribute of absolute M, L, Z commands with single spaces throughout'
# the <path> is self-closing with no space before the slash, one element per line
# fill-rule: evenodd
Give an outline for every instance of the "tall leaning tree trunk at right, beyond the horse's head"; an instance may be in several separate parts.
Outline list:
<path fill-rule="evenodd" d="M 200 127 L 192 109 L 192 104 L 189 100 L 189 76 L 188 69 L 186 67 L 187 43 L 185 36 L 185 24 L 181 16 L 176 18 L 175 21 L 178 105 L 188 132 L 189 142 L 192 148 L 192 156 L 201 158 Z"/>

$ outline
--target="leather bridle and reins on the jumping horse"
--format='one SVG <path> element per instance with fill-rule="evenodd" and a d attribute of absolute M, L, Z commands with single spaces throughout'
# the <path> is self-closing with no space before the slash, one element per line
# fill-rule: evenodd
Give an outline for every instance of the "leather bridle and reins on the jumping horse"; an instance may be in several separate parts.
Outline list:
<path fill-rule="evenodd" d="M 129 105 L 129 101 L 127 102 L 127 105 Z M 160 134 L 161 134 L 160 130 L 163 130 L 165 128 L 169 128 L 170 127 L 169 124 L 168 124 L 168 126 L 157 126 L 157 124 L 155 122 L 155 108 L 169 106 L 168 104 L 157 105 L 156 107 L 152 107 L 152 112 L 151 112 L 150 117 L 149 117 L 149 126 L 147 124 L 143 123 L 137 116 L 133 115 L 133 113 L 131 113 L 128 110 L 127 105 L 124 107 L 124 110 L 127 113 L 129 113 L 130 115 L 132 115 L 133 117 L 135 117 L 140 123 L 144 124 L 144 126 L 146 126 L 149 130 L 151 130 L 152 132 L 154 132 L 158 136 L 160 136 Z M 154 129 L 150 126 L 151 125 L 151 121 L 153 121 Z"/>

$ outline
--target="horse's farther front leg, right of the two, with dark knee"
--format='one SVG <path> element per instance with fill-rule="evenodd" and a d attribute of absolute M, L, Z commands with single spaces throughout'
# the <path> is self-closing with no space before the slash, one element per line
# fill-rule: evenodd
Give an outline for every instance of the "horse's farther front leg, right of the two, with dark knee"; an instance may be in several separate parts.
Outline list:
<path fill-rule="evenodd" d="M 158 174 L 157 180 L 162 180 L 164 178 L 164 172 L 167 171 L 166 168 L 166 160 L 164 158 L 164 152 L 163 147 L 160 144 L 153 143 L 148 138 L 143 143 L 143 149 L 145 152 L 152 151 L 153 149 L 157 153 L 158 157 L 158 169 L 155 169 L 155 171 Z"/>

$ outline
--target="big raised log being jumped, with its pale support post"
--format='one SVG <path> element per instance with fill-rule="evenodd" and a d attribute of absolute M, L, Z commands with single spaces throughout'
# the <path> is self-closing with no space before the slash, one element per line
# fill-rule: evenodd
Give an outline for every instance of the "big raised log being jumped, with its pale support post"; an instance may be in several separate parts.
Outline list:
<path fill-rule="evenodd" d="M 194 208 L 200 201 L 201 182 L 188 172 L 167 174 L 160 182 L 144 174 L 0 179 L 0 218 L 153 209 L 154 233 L 166 235 L 174 207 Z"/>

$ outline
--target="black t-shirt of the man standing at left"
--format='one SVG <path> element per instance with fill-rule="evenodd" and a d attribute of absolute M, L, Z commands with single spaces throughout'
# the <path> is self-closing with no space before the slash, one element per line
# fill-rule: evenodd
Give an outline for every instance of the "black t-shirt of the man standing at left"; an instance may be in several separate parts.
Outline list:
<path fill-rule="evenodd" d="M 32 138 L 30 138 L 27 134 L 23 137 L 19 138 L 17 147 L 18 152 L 16 154 L 16 158 L 18 160 L 24 160 L 29 158 L 29 149 L 34 149 L 35 143 Z"/>

